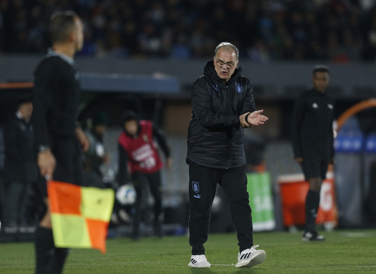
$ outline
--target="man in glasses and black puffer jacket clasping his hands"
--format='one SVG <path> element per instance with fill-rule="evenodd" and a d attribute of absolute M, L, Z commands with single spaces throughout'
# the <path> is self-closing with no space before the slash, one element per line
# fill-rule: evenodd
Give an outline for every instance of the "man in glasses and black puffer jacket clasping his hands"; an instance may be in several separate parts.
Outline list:
<path fill-rule="evenodd" d="M 210 267 L 203 244 L 208 239 L 210 209 L 217 184 L 226 193 L 232 222 L 237 230 L 240 255 L 237 267 L 249 267 L 265 259 L 255 250 L 247 192 L 244 130 L 263 124 L 267 117 L 256 111 L 252 84 L 241 75 L 238 50 L 222 42 L 215 49 L 204 74 L 193 84 L 192 119 L 188 126 L 189 233 L 193 267 Z"/>

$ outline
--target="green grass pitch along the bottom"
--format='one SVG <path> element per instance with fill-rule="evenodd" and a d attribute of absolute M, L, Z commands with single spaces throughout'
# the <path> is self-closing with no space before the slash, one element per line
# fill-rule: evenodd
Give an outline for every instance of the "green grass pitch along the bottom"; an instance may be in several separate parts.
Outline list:
<path fill-rule="evenodd" d="M 237 239 L 233 233 L 209 234 L 205 244 L 211 268 L 190 268 L 187 236 L 108 239 L 107 253 L 72 249 L 64 274 L 112 273 L 376 273 L 376 230 L 322 232 L 323 242 L 302 242 L 301 234 L 254 233 L 255 244 L 266 251 L 265 262 L 235 268 Z M 0 243 L 0 273 L 33 273 L 33 244 Z"/>

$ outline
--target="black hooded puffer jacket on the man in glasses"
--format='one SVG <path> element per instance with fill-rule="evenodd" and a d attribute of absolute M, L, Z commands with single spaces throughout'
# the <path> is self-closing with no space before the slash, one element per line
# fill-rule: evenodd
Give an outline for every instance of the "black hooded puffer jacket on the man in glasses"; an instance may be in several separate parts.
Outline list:
<path fill-rule="evenodd" d="M 243 166 L 244 131 L 240 114 L 256 110 L 252 84 L 235 69 L 226 84 L 206 64 L 204 74 L 192 87 L 192 119 L 188 127 L 186 162 L 205 167 L 229 169 Z"/>

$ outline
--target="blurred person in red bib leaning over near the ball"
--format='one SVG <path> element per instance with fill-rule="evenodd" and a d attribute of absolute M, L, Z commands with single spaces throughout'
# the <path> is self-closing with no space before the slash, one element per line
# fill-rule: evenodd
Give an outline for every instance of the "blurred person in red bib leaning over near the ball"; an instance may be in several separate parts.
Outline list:
<path fill-rule="evenodd" d="M 141 202 L 146 184 L 149 184 L 154 204 L 154 232 L 162 236 L 160 215 L 162 213 L 161 157 L 154 139 L 158 141 L 166 157 L 166 167 L 171 166 L 170 149 L 162 131 L 151 121 L 138 120 L 136 113 L 126 111 L 123 114 L 124 131 L 118 138 L 119 172 L 118 183 L 124 185 L 132 175 L 133 185 L 137 193 L 135 202 L 135 218 L 133 221 L 132 238 L 139 238 L 141 221 Z M 129 173 L 128 173 L 129 168 Z"/>

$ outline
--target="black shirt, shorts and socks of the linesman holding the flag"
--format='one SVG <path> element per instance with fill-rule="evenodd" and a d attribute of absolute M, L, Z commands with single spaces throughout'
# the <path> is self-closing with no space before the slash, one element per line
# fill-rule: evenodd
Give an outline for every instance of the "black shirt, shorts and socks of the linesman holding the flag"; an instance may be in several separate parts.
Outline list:
<path fill-rule="evenodd" d="M 50 51 L 34 73 L 32 125 L 38 152 L 51 149 L 56 158 L 53 179 L 82 182 L 81 147 L 75 135 L 80 76 L 73 59 Z M 44 178 L 41 193 L 47 197 Z M 51 229 L 36 229 L 36 273 L 61 273 L 67 248 L 54 247 Z"/>

